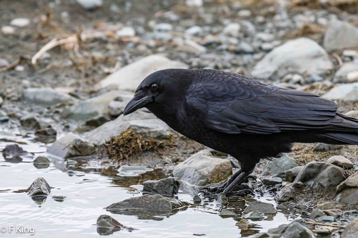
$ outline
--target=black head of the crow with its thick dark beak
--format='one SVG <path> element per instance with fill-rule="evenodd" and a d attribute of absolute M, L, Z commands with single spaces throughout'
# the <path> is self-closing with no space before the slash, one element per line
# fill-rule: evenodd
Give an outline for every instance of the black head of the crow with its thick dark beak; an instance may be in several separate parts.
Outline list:
<path fill-rule="evenodd" d="M 143 107 L 148 108 L 154 114 L 157 114 L 155 112 L 161 108 L 163 110 L 174 109 L 173 106 L 185 96 L 190 86 L 188 81 L 192 78 L 192 71 L 187 69 L 165 69 L 150 74 L 138 86 L 123 114 L 130 114 Z"/>

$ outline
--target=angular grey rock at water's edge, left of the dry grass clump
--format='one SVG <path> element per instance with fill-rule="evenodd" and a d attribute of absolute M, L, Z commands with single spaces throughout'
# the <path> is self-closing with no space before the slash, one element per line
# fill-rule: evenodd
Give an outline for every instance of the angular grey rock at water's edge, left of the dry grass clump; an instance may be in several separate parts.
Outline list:
<path fill-rule="evenodd" d="M 60 158 L 92 155 L 94 152 L 95 146 L 92 143 L 73 133 L 56 140 L 47 148 L 47 153 Z"/>

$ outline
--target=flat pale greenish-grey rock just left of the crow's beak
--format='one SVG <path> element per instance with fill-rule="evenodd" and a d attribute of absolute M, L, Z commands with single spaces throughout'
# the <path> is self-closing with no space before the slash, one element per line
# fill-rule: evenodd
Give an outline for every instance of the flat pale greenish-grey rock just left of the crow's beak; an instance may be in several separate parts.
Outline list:
<path fill-rule="evenodd" d="M 75 120 L 84 120 L 97 115 L 108 115 L 108 105 L 116 98 L 122 98 L 127 102 L 133 97 L 133 94 L 127 91 L 114 90 L 107 93 L 80 101 L 71 107 L 67 117 Z"/>

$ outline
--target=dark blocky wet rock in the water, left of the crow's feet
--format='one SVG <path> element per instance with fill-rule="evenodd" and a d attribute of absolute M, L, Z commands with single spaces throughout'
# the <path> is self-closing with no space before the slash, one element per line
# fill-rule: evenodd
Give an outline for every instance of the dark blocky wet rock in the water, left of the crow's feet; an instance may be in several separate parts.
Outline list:
<path fill-rule="evenodd" d="M 143 192 L 171 197 L 173 197 L 174 194 L 178 194 L 179 187 L 180 181 L 174 177 L 143 182 Z"/>

